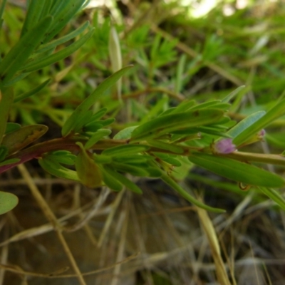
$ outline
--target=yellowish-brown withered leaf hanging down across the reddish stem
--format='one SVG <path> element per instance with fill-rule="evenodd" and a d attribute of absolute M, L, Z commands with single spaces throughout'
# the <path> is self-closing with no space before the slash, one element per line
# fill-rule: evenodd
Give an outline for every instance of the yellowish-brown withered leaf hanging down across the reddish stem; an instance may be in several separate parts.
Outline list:
<path fill-rule="evenodd" d="M 76 157 L 76 172 L 83 185 L 95 188 L 102 186 L 102 175 L 100 168 L 91 158 L 91 154 L 86 152 L 81 142 L 76 142 L 80 150 Z"/>

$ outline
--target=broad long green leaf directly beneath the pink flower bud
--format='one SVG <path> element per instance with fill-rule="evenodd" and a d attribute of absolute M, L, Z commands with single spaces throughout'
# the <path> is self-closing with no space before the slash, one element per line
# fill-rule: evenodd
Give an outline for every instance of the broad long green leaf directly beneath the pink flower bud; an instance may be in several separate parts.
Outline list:
<path fill-rule="evenodd" d="M 231 180 L 242 182 L 246 185 L 262 187 L 283 187 L 285 180 L 274 173 L 263 170 L 254 165 L 232 160 L 227 157 L 207 155 L 205 153 L 192 153 L 188 159 L 205 169 L 227 177 Z"/>

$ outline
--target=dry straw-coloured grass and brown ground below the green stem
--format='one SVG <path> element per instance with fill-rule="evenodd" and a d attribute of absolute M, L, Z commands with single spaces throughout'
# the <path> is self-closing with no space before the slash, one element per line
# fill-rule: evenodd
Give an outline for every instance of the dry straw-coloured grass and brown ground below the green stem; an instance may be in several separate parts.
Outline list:
<path fill-rule="evenodd" d="M 213 216 L 155 180 L 140 197 L 31 171 L 1 185 L 20 204 L 0 220 L 0 284 L 284 284 L 284 213 L 252 195 Z"/>

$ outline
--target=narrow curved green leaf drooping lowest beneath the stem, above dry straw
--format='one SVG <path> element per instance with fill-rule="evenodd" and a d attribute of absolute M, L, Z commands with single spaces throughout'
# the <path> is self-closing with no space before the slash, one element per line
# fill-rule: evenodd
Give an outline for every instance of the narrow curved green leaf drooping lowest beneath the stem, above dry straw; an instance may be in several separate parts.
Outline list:
<path fill-rule="evenodd" d="M 225 212 L 224 209 L 218 209 L 209 207 L 206 204 L 203 204 L 202 202 L 199 202 L 195 197 L 192 197 L 188 192 L 186 192 L 180 185 L 177 184 L 171 177 L 166 175 L 165 173 L 162 174 L 161 179 L 167 184 L 172 187 L 173 190 L 175 190 L 177 193 L 179 193 L 183 198 L 187 199 L 187 201 L 191 202 L 192 204 L 195 204 L 197 207 L 200 207 L 202 209 L 206 209 L 209 212 L 216 212 L 216 213 L 223 213 Z"/>

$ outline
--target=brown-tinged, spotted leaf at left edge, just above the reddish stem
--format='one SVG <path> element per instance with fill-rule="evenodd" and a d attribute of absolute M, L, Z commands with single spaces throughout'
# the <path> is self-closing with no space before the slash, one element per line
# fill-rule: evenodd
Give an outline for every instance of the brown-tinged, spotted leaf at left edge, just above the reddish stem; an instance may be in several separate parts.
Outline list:
<path fill-rule="evenodd" d="M 26 125 L 4 136 L 2 145 L 8 148 L 9 155 L 21 150 L 31 142 L 38 140 L 48 130 L 46 125 Z"/>

